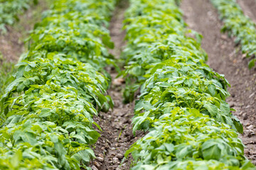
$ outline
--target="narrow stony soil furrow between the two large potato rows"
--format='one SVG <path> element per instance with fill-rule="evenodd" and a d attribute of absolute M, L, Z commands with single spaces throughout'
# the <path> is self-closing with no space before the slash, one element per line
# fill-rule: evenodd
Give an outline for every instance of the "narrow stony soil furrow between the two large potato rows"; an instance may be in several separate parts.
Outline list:
<path fill-rule="evenodd" d="M 110 35 L 114 41 L 114 50 L 110 50 L 112 55 L 119 57 L 122 47 L 125 45 L 125 32 L 122 30 L 122 21 L 124 20 L 124 11 L 128 7 L 127 1 L 120 1 L 113 13 L 110 23 Z M 111 71 L 110 71 L 111 72 Z M 139 132 L 137 137 L 132 134 L 132 116 L 134 113 L 134 103 L 122 103 L 122 89 L 124 89 L 124 80 L 115 79 L 117 73 L 112 70 L 112 86 L 108 94 L 114 101 L 114 108 L 108 113 L 100 113 L 95 116 L 95 122 L 102 128 L 101 137 L 95 144 L 96 159 L 90 166 L 92 170 L 112 170 L 129 169 L 132 164 L 132 158 L 124 159 L 124 153 L 129 147 L 138 140 L 143 134 Z"/>

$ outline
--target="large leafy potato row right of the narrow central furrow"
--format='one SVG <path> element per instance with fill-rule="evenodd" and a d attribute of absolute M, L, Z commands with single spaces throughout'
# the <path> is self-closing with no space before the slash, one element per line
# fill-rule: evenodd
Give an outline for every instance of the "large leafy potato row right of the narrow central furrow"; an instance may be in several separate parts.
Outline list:
<path fill-rule="evenodd" d="M 255 169 L 225 102 L 228 81 L 206 64 L 201 35 L 186 29 L 178 1 L 130 4 L 122 74 L 135 84 L 124 97 L 130 101 L 139 89 L 133 132 L 148 131 L 125 154 L 132 153 L 132 169 Z"/>

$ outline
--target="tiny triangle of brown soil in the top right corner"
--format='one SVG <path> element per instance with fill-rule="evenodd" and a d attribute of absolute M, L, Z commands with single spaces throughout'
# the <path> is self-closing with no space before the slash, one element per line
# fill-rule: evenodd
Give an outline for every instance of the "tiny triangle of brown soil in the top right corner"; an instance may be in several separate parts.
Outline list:
<path fill-rule="evenodd" d="M 256 23 L 256 1 L 255 0 L 237 0 L 242 11 Z"/>

